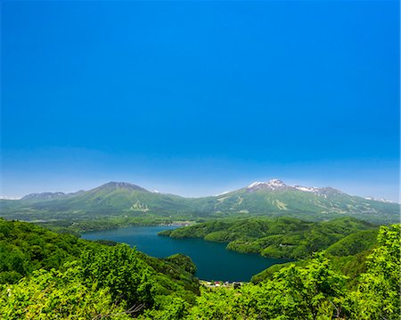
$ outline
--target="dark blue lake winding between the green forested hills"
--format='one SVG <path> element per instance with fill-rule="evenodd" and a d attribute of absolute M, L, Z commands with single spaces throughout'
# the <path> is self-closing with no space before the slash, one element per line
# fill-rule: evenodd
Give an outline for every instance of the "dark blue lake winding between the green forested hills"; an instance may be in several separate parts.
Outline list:
<path fill-rule="evenodd" d="M 157 235 L 177 226 L 130 226 L 94 231 L 82 235 L 87 240 L 124 242 L 137 250 L 157 258 L 183 253 L 192 258 L 200 279 L 220 281 L 250 281 L 252 275 L 289 259 L 264 258 L 256 254 L 244 254 L 225 250 L 226 243 L 207 242 L 202 239 L 173 239 Z"/>

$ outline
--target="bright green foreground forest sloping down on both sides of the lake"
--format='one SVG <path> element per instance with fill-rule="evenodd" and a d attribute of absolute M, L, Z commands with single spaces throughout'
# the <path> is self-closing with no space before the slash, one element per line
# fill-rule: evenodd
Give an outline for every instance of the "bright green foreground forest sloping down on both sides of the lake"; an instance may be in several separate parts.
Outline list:
<path fill-rule="evenodd" d="M 356 232 L 344 232 L 348 235 L 303 260 L 272 267 L 254 283 L 208 289 L 200 288 L 193 276 L 196 267 L 183 255 L 151 258 L 124 244 L 88 242 L 29 223 L 0 220 L 0 315 L 399 319 L 400 226 L 378 230 L 357 221 L 348 221 L 348 226 L 335 223 Z M 352 265 L 360 273 L 345 274 Z"/>

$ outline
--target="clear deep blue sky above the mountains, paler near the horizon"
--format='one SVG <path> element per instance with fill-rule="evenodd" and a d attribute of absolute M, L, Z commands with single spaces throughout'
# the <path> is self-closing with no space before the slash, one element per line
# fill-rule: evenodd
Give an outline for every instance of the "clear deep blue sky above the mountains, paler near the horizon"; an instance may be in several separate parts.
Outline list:
<path fill-rule="evenodd" d="M 398 198 L 397 1 L 2 2 L 2 191 Z"/>

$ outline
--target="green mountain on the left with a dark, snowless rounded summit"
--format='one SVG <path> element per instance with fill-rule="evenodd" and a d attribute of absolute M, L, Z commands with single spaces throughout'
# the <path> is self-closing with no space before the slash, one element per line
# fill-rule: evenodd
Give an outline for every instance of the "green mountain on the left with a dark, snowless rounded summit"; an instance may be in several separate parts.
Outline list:
<path fill-rule="evenodd" d="M 0 217 L 27 221 L 118 215 L 168 217 L 196 211 L 189 199 L 152 193 L 125 182 L 110 182 L 78 193 L 33 193 L 19 201 L 0 201 L 0 210 Z"/>

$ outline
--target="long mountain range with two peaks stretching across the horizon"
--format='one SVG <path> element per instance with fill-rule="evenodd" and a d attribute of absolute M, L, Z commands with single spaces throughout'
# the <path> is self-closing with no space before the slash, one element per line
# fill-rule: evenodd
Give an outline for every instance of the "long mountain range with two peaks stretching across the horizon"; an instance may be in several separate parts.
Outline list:
<path fill-rule="evenodd" d="M 241 217 L 288 216 L 309 219 L 353 216 L 381 223 L 399 221 L 399 204 L 342 193 L 332 187 L 286 185 L 279 179 L 255 182 L 229 193 L 202 198 L 150 192 L 138 185 L 110 182 L 78 193 L 32 193 L 0 200 L 0 216 L 23 220 L 109 216 Z"/>

